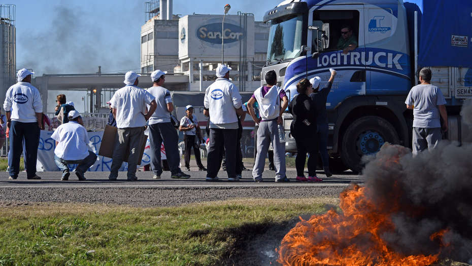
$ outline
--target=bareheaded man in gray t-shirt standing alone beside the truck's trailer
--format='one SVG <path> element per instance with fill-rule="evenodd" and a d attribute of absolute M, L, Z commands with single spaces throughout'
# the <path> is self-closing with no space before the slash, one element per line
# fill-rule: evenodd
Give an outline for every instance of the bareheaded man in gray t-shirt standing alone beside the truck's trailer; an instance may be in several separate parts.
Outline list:
<path fill-rule="evenodd" d="M 431 69 L 423 67 L 420 71 L 420 85 L 410 90 L 405 104 L 413 109 L 413 154 L 433 148 L 442 139 L 443 131 L 448 130 L 446 99 L 436 86 L 431 85 Z"/>

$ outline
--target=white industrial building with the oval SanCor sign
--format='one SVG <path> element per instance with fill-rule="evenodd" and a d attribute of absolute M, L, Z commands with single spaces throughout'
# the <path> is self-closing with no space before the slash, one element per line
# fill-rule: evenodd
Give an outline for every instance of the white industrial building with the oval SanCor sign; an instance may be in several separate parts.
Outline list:
<path fill-rule="evenodd" d="M 160 12 L 162 10 L 162 12 Z M 223 7 L 222 7 L 223 10 Z M 269 25 L 254 21 L 253 14 L 173 16 L 172 0 L 146 3 L 147 22 L 141 27 L 141 72 L 166 70 L 188 77 L 171 90 L 205 90 L 215 79 L 221 64 L 221 32 L 224 36 L 224 63 L 229 65 L 233 83 L 241 91 L 260 86 L 265 63 Z"/>

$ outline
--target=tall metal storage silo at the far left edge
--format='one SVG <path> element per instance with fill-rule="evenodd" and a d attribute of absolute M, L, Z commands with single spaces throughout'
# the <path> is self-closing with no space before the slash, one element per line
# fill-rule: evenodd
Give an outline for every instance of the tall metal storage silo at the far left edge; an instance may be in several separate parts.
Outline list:
<path fill-rule="evenodd" d="M 15 5 L 0 5 L 0 106 L 8 88 L 16 83 Z"/>

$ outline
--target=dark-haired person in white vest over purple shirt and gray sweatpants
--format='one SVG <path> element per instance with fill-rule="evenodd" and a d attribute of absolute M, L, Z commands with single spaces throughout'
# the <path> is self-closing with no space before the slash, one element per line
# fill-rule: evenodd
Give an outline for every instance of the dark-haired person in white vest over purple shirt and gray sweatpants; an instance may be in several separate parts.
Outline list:
<path fill-rule="evenodd" d="M 262 172 L 265 166 L 265 156 L 272 142 L 274 147 L 274 164 L 276 169 L 276 182 L 289 182 L 285 175 L 285 143 L 280 142 L 278 125 L 282 124 L 282 113 L 288 106 L 288 97 L 284 90 L 276 86 L 277 74 L 274 70 L 265 73 L 265 86 L 254 91 L 248 101 L 248 111 L 256 124 L 257 129 L 257 155 L 252 170 L 254 181 L 262 181 Z M 254 112 L 254 103 L 259 105 L 259 116 Z M 282 104 L 281 104 L 282 101 Z M 275 106 L 274 106 L 275 104 Z"/>

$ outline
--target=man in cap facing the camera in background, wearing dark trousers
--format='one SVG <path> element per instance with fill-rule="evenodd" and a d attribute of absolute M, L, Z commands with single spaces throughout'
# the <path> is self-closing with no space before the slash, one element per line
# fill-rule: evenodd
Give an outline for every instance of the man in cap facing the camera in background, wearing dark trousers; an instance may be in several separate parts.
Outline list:
<path fill-rule="evenodd" d="M 185 143 L 185 169 L 190 171 L 190 155 L 195 154 L 195 161 L 200 171 L 207 171 L 207 168 L 201 164 L 200 160 L 200 127 L 198 126 L 198 118 L 193 115 L 193 106 L 185 106 L 187 115 L 180 120 L 179 130 L 184 132 Z"/>

